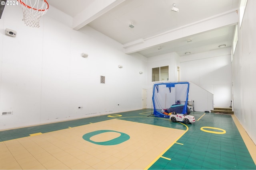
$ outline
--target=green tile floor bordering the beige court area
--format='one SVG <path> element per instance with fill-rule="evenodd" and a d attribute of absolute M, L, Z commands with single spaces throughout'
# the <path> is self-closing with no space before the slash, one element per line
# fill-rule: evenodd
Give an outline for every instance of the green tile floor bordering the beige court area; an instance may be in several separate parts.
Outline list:
<path fill-rule="evenodd" d="M 191 115 L 199 120 L 186 127 L 178 122 L 173 123 L 168 118 L 154 117 L 151 113 L 151 109 L 142 109 L 116 113 L 122 115 L 120 117 L 101 115 L 0 131 L 0 142 L 27 137 L 34 133 L 47 133 L 109 119 L 122 119 L 182 130 L 186 130 L 188 127 L 188 131 L 160 158 L 152 162 L 148 169 L 256 169 L 231 115 L 191 112 Z M 201 127 L 220 128 L 224 129 L 226 133 L 208 133 L 200 130 Z M 218 129 L 207 130 L 221 132 Z"/>

